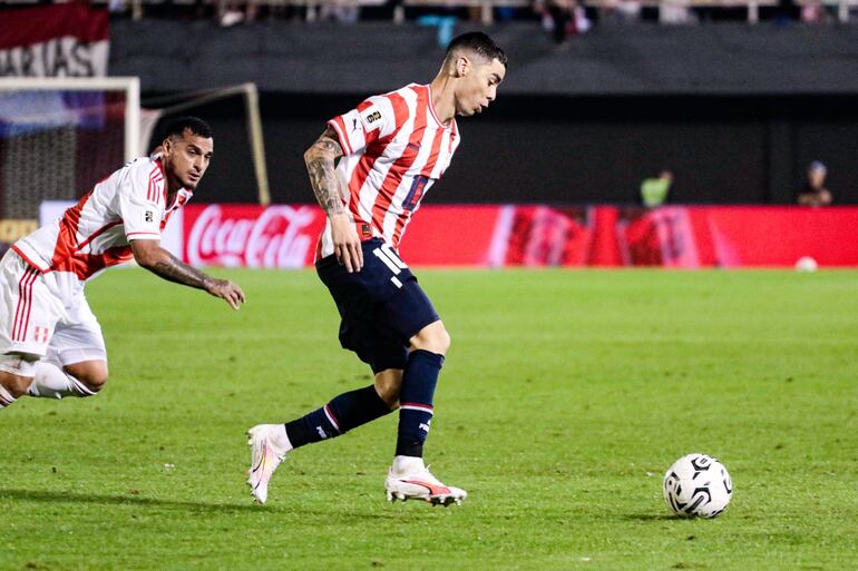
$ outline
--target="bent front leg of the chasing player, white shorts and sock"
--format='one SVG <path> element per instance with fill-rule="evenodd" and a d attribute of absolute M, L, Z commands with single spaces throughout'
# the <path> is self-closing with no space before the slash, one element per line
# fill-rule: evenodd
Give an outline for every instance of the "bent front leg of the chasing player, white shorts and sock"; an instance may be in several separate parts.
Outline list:
<path fill-rule="evenodd" d="M 48 398 L 94 396 L 104 387 L 107 375 L 101 326 L 81 292 L 69 301 L 46 358 L 36 364 L 29 394 Z"/>

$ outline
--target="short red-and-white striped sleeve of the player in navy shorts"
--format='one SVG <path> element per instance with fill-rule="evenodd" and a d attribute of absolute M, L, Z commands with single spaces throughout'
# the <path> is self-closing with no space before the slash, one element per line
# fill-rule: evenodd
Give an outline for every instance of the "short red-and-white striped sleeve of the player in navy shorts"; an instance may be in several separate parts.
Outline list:
<path fill-rule="evenodd" d="M 370 97 L 349 112 L 338 115 L 328 125 L 333 127 L 347 155 L 363 151 L 372 142 L 387 137 L 401 125 L 393 101 L 388 96 Z"/>

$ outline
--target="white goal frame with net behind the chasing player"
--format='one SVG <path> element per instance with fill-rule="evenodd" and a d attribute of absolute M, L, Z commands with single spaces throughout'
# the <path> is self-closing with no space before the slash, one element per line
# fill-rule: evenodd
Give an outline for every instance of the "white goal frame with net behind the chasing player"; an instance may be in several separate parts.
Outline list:
<path fill-rule="evenodd" d="M 226 98 L 242 101 L 255 194 L 269 205 L 255 83 L 142 101 L 137 77 L 0 78 L 0 220 L 35 219 L 42 200 L 76 199 L 92 181 L 149 152 L 160 119 L 195 115 L 194 108 Z"/>

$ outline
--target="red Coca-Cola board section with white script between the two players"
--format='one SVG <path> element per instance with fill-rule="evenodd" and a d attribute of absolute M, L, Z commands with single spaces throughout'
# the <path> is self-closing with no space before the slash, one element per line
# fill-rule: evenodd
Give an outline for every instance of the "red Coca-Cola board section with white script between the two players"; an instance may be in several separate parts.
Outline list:
<path fill-rule="evenodd" d="M 301 268 L 324 228 L 318 206 L 188 205 L 185 259 L 195 266 Z"/>

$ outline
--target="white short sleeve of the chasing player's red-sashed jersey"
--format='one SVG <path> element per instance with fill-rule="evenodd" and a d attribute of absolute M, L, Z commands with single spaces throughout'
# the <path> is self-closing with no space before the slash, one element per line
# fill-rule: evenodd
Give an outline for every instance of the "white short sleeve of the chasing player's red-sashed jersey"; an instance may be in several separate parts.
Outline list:
<path fill-rule="evenodd" d="M 164 217 L 164 178 L 160 168 L 149 163 L 133 168 L 119 189 L 119 210 L 128 240 L 160 239 Z"/>

